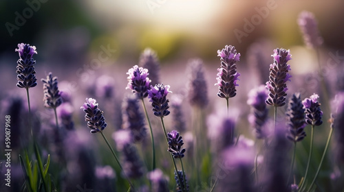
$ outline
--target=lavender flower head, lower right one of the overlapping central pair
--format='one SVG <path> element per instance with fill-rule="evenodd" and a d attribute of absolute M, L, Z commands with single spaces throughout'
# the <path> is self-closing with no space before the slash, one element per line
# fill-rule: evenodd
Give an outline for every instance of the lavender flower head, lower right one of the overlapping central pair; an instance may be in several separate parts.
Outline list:
<path fill-rule="evenodd" d="M 170 86 L 164 84 L 156 84 L 151 86 L 151 89 L 148 90 L 149 101 L 152 102 L 153 112 L 155 116 L 164 117 L 170 114 L 169 112 L 169 99 L 166 99 Z"/>

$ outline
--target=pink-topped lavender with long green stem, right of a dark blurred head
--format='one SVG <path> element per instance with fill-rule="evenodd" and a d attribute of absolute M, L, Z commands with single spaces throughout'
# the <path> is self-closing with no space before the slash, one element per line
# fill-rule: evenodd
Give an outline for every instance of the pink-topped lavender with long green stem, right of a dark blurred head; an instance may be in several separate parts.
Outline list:
<path fill-rule="evenodd" d="M 306 179 L 308 176 L 308 169 L 310 167 L 310 160 L 312 158 L 314 127 L 319 126 L 323 123 L 323 121 L 321 121 L 323 112 L 320 109 L 320 104 L 319 104 L 318 99 L 319 99 L 319 95 L 316 95 L 314 93 L 309 98 L 305 98 L 302 101 L 303 108 L 305 108 L 305 123 L 307 123 L 308 125 L 311 125 L 312 130 L 311 130 L 311 135 L 310 135 L 310 155 L 308 156 L 308 163 L 305 169 L 305 176 L 300 187 L 301 190 L 306 182 Z"/>

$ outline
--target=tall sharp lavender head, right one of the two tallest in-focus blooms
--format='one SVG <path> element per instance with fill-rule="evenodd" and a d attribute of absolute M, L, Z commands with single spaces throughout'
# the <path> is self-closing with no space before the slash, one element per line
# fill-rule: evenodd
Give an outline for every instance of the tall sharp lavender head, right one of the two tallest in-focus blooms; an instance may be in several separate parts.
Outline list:
<path fill-rule="evenodd" d="M 269 97 L 266 104 L 270 106 L 281 107 L 286 104 L 286 91 L 288 90 L 286 82 L 290 81 L 290 65 L 287 64 L 291 60 L 291 54 L 286 49 L 274 49 L 274 63 L 270 64 L 269 81 L 266 82 L 266 88 L 269 91 Z"/>

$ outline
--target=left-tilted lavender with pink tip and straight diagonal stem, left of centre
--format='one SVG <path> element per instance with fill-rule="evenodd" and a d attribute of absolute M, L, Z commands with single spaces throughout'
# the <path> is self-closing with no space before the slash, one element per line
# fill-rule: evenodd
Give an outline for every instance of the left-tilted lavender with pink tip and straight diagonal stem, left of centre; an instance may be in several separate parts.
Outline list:
<path fill-rule="evenodd" d="M 107 127 L 107 123 L 105 122 L 103 111 L 98 108 L 98 103 L 96 99 L 86 98 L 86 102 L 83 104 L 83 106 L 80 107 L 80 109 L 82 109 L 86 113 L 85 121 L 87 121 L 87 127 L 90 129 L 90 132 L 92 134 L 100 133 L 103 136 L 103 139 L 105 140 L 105 143 L 107 143 L 107 146 L 109 147 L 112 155 L 114 156 L 116 163 L 118 163 L 118 166 L 120 167 L 121 171 L 124 171 L 122 165 L 120 164 L 120 160 L 116 156 L 114 149 L 111 147 L 109 141 L 107 141 L 107 138 L 103 133 L 103 130 Z M 134 190 L 131 180 L 127 176 L 125 177 L 127 178 L 131 189 Z"/>

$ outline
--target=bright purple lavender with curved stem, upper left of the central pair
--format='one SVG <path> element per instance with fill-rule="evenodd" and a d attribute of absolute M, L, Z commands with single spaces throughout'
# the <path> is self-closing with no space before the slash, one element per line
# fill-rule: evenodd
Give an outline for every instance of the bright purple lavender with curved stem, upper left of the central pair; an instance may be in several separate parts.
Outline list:
<path fill-rule="evenodd" d="M 144 109 L 144 113 L 146 115 L 149 130 L 151 132 L 151 145 L 152 145 L 152 170 L 155 169 L 155 145 L 154 145 L 154 136 L 153 136 L 153 129 L 151 128 L 151 121 L 149 121 L 149 116 L 147 112 L 147 108 L 144 104 L 144 98 L 148 96 L 148 91 L 150 89 L 151 80 L 149 80 L 149 73 L 148 69 L 144 69 L 142 67 L 138 67 L 135 65 L 131 69 L 128 70 L 127 77 L 128 84 L 126 89 L 131 89 L 134 95 L 138 97 L 142 101 L 142 108 Z"/>

